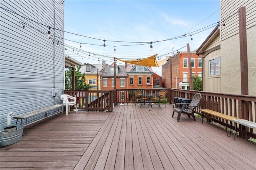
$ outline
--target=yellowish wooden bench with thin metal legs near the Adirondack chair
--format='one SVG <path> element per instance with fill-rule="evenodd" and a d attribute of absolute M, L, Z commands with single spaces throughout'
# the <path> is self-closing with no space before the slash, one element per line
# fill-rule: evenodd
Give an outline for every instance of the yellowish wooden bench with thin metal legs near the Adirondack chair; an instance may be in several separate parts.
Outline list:
<path fill-rule="evenodd" d="M 202 123 L 204 121 L 204 113 L 206 114 L 209 114 L 209 115 L 213 115 L 213 116 L 216 116 L 216 117 L 220 117 L 222 119 L 226 119 L 228 121 L 231 122 L 231 126 L 232 126 L 232 121 L 234 120 L 239 120 L 240 118 L 237 118 L 237 117 L 233 117 L 233 116 L 230 116 L 230 115 L 224 115 L 218 111 L 214 111 L 214 110 L 210 110 L 210 109 L 200 109 L 200 111 L 203 113 L 203 116 L 202 116 Z M 210 123 L 210 121 L 208 122 L 208 115 L 207 115 L 207 123 Z M 227 127 L 227 123 L 226 123 L 226 132 L 227 132 L 227 136 L 230 137 L 231 135 L 231 129 L 230 129 L 230 134 L 228 135 L 228 127 Z M 234 136 L 235 134 L 237 135 L 237 131 L 236 131 L 236 123 L 235 123 L 235 133 L 234 133 Z M 235 139 L 235 137 L 234 137 Z"/>

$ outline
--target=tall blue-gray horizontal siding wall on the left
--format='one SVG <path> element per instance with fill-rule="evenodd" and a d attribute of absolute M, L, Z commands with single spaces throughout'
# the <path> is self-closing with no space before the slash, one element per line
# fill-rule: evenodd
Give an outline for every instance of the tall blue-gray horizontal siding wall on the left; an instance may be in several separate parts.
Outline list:
<path fill-rule="evenodd" d="M 64 30 L 64 2 L 1 0 L 0 7 L 0 125 L 7 125 L 11 111 L 19 115 L 61 103 L 64 33 L 56 29 Z M 50 29 L 51 41 L 48 27 L 55 28 Z M 60 91 L 55 98 L 52 88 Z"/>

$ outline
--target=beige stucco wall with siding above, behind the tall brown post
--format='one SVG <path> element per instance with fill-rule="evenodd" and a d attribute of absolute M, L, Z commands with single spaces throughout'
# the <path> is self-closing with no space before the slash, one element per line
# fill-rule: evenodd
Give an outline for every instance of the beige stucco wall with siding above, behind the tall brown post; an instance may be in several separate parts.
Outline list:
<path fill-rule="evenodd" d="M 246 9 L 246 39 L 249 95 L 256 96 L 256 1 L 221 0 L 221 19 L 231 16 L 241 6 Z M 221 28 L 221 93 L 241 94 L 240 40 L 238 14 Z"/>

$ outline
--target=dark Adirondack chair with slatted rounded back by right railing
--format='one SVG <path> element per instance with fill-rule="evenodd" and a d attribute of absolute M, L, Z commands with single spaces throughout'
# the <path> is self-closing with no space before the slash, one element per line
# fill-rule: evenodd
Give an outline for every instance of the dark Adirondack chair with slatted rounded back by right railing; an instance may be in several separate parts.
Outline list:
<path fill-rule="evenodd" d="M 174 115 L 174 112 L 177 112 L 178 113 L 177 121 L 180 121 L 181 114 L 185 113 L 185 114 L 188 115 L 188 117 L 190 117 L 190 115 L 192 115 L 192 117 L 196 121 L 196 117 L 194 115 L 194 109 L 199 104 L 201 98 L 202 98 L 201 94 L 197 93 L 193 96 L 190 104 L 176 103 L 175 108 L 174 108 L 173 113 L 172 113 L 172 117 Z M 181 108 L 179 108 L 180 105 L 182 105 Z M 183 108 L 186 108 L 186 109 L 183 109 Z"/>

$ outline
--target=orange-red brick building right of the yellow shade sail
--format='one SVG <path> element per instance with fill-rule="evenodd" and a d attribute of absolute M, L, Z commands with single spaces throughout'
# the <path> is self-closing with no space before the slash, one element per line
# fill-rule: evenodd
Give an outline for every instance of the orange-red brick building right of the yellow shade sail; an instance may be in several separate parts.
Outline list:
<path fill-rule="evenodd" d="M 170 58 L 169 56 L 168 58 Z M 202 59 L 195 52 L 190 52 L 192 76 L 202 77 Z M 188 68 L 188 53 L 178 52 L 171 57 L 172 63 L 172 80 L 170 79 L 170 60 L 162 65 L 162 86 L 170 88 L 187 89 L 189 86 L 189 68 Z M 180 86 L 181 85 L 181 86 Z"/>

